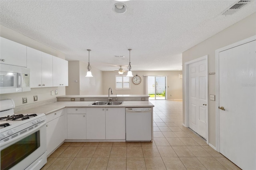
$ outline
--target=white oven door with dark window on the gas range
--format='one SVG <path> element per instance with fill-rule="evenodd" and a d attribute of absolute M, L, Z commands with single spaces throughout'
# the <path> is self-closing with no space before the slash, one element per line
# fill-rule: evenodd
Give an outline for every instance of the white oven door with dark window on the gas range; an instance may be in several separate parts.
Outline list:
<path fill-rule="evenodd" d="M 46 164 L 46 122 L 33 127 L 1 143 L 1 170 L 40 169 Z"/>

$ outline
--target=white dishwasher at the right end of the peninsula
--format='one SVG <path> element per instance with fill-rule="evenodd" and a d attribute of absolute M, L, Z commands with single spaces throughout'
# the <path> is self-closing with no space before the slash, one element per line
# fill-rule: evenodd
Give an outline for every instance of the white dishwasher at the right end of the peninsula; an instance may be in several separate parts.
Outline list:
<path fill-rule="evenodd" d="M 126 141 L 151 141 L 151 107 L 126 108 Z"/>

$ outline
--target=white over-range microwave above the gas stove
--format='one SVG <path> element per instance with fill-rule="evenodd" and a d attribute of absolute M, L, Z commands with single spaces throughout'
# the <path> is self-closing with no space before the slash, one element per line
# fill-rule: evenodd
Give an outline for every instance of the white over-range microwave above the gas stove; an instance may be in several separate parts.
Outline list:
<path fill-rule="evenodd" d="M 0 94 L 30 91 L 30 69 L 0 63 Z"/>

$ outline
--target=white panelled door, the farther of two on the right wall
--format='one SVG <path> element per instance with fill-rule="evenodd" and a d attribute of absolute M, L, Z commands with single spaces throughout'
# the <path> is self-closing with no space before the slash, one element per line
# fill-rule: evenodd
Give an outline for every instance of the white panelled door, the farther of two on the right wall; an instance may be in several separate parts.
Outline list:
<path fill-rule="evenodd" d="M 207 130 L 207 60 L 188 65 L 189 127 L 206 139 Z"/>

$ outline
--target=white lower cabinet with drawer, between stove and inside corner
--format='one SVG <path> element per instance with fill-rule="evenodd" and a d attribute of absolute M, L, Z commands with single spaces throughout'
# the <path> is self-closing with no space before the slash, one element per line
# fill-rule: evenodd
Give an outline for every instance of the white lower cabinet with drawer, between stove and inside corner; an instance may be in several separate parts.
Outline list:
<path fill-rule="evenodd" d="M 64 109 L 46 115 L 46 145 L 49 156 L 65 140 Z"/>

